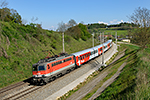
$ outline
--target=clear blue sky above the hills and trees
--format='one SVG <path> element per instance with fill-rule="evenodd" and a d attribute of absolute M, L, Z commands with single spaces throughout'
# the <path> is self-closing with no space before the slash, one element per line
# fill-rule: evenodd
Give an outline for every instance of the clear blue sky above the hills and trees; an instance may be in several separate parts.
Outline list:
<path fill-rule="evenodd" d="M 150 0 L 6 0 L 8 8 L 15 9 L 22 19 L 42 28 L 56 30 L 58 23 L 74 19 L 84 24 L 117 24 L 131 22 L 130 16 L 138 7 L 150 10 Z"/>

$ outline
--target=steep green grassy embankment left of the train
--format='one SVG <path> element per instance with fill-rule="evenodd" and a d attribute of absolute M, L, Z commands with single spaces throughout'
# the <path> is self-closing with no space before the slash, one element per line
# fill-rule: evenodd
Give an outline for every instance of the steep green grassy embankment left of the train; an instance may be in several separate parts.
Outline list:
<path fill-rule="evenodd" d="M 1 22 L 0 88 L 32 76 L 32 64 L 47 56 L 42 50 L 62 52 L 62 34 L 31 25 Z M 92 46 L 92 39 L 75 40 L 65 35 L 65 51 L 73 53 Z"/>

